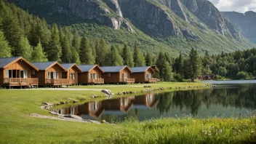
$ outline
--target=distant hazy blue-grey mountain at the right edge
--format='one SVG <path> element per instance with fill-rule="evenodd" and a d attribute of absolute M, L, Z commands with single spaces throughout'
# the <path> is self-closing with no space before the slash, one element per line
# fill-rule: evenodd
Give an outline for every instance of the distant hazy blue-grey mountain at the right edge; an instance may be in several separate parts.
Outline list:
<path fill-rule="evenodd" d="M 236 28 L 239 28 L 239 31 L 249 39 L 250 41 L 256 43 L 256 12 L 221 12 L 222 15 Z"/>

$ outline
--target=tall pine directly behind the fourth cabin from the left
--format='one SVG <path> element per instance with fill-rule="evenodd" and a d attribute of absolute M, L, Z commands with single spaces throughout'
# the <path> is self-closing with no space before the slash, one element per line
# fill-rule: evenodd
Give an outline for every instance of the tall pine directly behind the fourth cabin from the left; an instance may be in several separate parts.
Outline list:
<path fill-rule="evenodd" d="M 82 37 L 81 39 L 81 47 L 80 47 L 80 60 L 82 64 L 93 64 L 95 62 L 95 57 L 92 55 L 92 48 L 89 44 L 89 39 L 87 36 Z"/>

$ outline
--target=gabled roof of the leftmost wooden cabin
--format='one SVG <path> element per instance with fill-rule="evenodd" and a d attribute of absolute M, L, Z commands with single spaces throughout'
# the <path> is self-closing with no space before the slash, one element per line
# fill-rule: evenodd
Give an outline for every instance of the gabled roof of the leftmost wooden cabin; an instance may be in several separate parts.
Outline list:
<path fill-rule="evenodd" d="M 33 65 L 32 63 L 29 63 L 28 60 L 25 60 L 25 58 L 23 58 L 23 57 L 3 57 L 3 58 L 0 58 L 0 68 L 5 68 L 5 67 L 7 67 L 8 65 L 10 65 L 12 63 L 16 63 L 18 60 L 24 60 L 25 63 L 30 65 L 36 71 L 39 71 L 39 69 L 36 68 L 35 65 Z"/>

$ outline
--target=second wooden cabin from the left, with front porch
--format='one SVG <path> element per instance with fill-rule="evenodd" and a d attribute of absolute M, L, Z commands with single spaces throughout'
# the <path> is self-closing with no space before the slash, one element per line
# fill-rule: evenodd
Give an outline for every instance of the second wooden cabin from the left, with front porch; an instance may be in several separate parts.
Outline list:
<path fill-rule="evenodd" d="M 70 85 L 69 79 L 67 79 L 67 71 L 60 63 L 42 62 L 32 64 L 39 68 L 34 77 L 39 78 L 40 86 L 57 87 Z"/>

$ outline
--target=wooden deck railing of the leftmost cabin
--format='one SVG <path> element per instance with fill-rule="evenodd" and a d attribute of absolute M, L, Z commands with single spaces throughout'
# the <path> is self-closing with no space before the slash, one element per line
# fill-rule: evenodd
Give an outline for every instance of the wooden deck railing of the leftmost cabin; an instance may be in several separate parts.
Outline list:
<path fill-rule="evenodd" d="M 4 84 L 9 85 L 38 85 L 39 79 L 38 78 L 5 78 Z"/>

